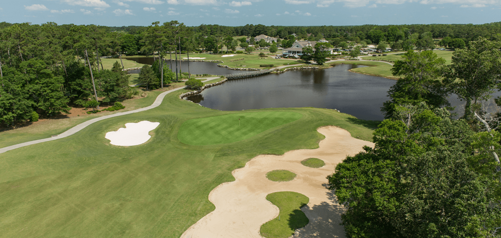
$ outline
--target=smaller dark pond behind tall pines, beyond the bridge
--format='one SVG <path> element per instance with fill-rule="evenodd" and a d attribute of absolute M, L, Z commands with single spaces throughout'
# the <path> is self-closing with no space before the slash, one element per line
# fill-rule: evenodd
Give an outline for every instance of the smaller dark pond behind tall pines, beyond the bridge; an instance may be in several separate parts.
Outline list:
<path fill-rule="evenodd" d="M 135 61 L 139 64 L 153 64 L 153 57 L 127 57 L 127 60 Z M 172 62 L 172 71 L 176 70 L 176 62 L 166 60 L 164 64 L 170 67 Z M 179 70 L 179 62 L 177 62 L 177 67 Z M 218 67 L 218 63 L 212 62 L 189 62 L 189 71 L 191 74 L 211 74 L 211 75 L 224 75 L 224 74 L 237 74 L 246 71 L 229 70 L 224 67 Z M 188 72 L 188 62 L 181 61 L 180 63 L 181 72 Z M 139 74 L 140 70 L 130 70 L 129 74 Z"/>

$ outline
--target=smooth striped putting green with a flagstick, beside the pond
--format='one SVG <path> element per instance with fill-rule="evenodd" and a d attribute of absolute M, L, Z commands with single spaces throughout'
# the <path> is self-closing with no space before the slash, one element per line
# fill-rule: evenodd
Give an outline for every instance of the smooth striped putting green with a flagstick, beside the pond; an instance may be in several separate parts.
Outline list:
<path fill-rule="evenodd" d="M 181 125 L 177 138 L 188 145 L 231 143 L 296 121 L 302 116 L 296 112 L 248 112 L 196 118 Z"/>

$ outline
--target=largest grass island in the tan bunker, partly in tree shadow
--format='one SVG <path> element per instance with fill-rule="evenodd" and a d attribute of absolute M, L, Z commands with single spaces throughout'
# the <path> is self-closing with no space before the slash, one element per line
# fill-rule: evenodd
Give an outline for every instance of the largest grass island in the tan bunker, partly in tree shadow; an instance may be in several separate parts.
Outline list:
<path fill-rule="evenodd" d="M 280 209 L 279 216 L 261 226 L 261 235 L 266 238 L 286 238 L 294 234 L 295 229 L 304 227 L 310 221 L 301 207 L 310 199 L 297 192 L 274 192 L 266 199 Z"/>

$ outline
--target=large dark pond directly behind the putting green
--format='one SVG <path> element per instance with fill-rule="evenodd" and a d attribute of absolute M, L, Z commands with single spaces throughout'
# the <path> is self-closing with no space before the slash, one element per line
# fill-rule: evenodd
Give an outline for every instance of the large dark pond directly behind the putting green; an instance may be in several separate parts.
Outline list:
<path fill-rule="evenodd" d="M 380 108 L 396 81 L 348 71 L 357 67 L 363 66 L 337 65 L 229 80 L 187 100 L 224 111 L 317 107 L 338 109 L 363 120 L 383 120 Z"/>

